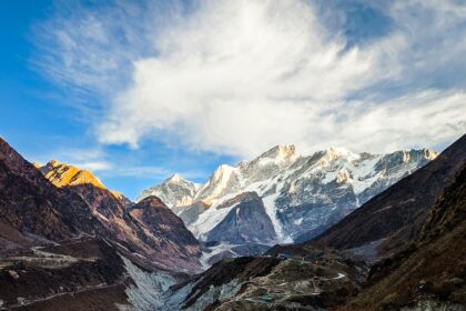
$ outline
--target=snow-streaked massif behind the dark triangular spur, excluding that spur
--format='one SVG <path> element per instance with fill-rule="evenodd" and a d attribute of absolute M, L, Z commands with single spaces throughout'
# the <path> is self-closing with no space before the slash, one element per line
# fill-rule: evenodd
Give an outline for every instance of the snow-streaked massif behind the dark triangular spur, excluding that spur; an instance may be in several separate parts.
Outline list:
<path fill-rule="evenodd" d="M 369 154 L 342 148 L 302 157 L 294 146 L 277 146 L 251 161 L 220 165 L 195 192 L 193 204 L 180 208 L 180 217 L 195 237 L 205 240 L 227 215 L 219 207 L 241 193 L 255 192 L 272 221 L 276 242 L 304 241 L 435 157 L 427 149 Z M 176 200 L 164 194 L 169 201 Z"/>

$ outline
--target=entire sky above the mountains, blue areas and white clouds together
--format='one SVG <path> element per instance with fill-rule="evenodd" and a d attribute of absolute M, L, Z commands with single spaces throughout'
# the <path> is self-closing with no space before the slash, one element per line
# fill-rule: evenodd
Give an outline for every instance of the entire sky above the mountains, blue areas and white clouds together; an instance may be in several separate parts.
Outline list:
<path fill-rule="evenodd" d="M 0 134 L 134 198 L 278 143 L 442 150 L 464 1 L 1 1 Z"/>

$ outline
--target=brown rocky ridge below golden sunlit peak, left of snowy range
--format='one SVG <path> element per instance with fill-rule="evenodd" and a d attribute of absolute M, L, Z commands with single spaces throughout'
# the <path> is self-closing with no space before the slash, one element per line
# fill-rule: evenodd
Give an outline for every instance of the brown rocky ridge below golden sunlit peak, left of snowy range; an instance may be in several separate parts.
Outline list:
<path fill-rule="evenodd" d="M 149 197 L 125 208 L 110 191 L 92 184 L 65 189 L 87 202 L 103 228 L 99 235 L 116 242 L 128 258 L 148 268 L 200 270 L 197 240 L 160 199 Z"/>

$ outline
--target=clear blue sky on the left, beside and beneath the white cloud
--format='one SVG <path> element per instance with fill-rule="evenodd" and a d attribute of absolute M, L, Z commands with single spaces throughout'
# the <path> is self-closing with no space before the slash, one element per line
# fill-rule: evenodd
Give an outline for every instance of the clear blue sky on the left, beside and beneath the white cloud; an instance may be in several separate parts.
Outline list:
<path fill-rule="evenodd" d="M 138 149 L 99 143 L 87 120 L 90 116 L 77 106 L 100 99 L 54 83 L 32 63 L 38 58 L 34 27 L 50 18 L 54 6 L 53 1 L 0 3 L 0 38 L 8 42 L 0 49 L 0 134 L 21 154 L 41 163 L 59 159 L 87 167 L 107 187 L 130 198 L 173 172 L 204 182 L 219 163 L 237 159 L 151 141 Z M 120 170 L 105 169 L 105 163 Z"/>

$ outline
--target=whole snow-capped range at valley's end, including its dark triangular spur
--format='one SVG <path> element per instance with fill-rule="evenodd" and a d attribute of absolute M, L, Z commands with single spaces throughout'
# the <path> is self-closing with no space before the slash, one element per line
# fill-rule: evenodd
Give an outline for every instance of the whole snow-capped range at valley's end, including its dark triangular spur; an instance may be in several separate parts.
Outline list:
<path fill-rule="evenodd" d="M 300 242 L 436 156 L 428 149 L 371 154 L 342 148 L 300 156 L 294 146 L 277 146 L 251 161 L 220 165 L 204 184 L 172 175 L 142 191 L 138 200 L 161 198 L 201 241 Z M 254 209 L 242 202 L 252 198 Z"/>

